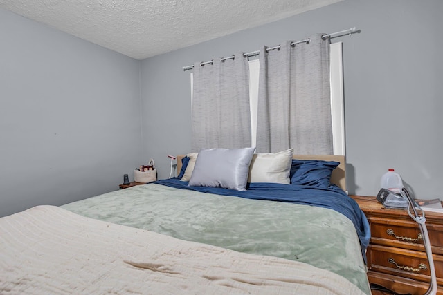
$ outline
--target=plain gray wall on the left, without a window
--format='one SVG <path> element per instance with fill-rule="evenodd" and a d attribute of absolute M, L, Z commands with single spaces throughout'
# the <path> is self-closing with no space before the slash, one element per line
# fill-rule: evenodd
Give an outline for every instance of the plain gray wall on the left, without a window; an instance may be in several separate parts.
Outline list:
<path fill-rule="evenodd" d="M 0 9 L 0 216 L 118 189 L 141 159 L 141 61 Z"/>

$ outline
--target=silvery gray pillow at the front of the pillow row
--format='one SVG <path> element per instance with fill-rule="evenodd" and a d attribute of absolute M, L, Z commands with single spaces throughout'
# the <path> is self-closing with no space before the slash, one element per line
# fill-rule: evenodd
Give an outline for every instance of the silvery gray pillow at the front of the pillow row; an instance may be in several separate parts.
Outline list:
<path fill-rule="evenodd" d="M 246 191 L 254 148 L 202 149 L 195 161 L 189 186 L 224 187 Z"/>

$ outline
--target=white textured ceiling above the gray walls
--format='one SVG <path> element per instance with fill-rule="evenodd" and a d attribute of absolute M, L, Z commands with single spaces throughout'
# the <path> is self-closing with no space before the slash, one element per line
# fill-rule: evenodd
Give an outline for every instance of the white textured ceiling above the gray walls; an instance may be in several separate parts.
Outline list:
<path fill-rule="evenodd" d="M 338 1 L 0 0 L 0 8 L 145 59 Z"/>

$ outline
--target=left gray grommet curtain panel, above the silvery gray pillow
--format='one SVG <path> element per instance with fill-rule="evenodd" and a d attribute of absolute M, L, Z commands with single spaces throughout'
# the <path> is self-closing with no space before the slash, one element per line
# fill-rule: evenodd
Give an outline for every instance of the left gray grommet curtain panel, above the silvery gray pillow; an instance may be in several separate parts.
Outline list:
<path fill-rule="evenodd" d="M 192 151 L 251 147 L 248 59 L 194 64 Z"/>

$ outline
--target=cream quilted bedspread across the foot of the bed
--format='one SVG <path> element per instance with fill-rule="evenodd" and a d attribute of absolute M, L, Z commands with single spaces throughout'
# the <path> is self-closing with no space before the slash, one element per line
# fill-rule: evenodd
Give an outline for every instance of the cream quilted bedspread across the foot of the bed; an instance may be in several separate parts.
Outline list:
<path fill-rule="evenodd" d="M 39 206 L 0 218 L 0 294 L 363 294 L 305 263 Z"/>

